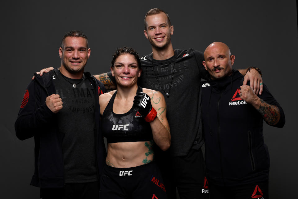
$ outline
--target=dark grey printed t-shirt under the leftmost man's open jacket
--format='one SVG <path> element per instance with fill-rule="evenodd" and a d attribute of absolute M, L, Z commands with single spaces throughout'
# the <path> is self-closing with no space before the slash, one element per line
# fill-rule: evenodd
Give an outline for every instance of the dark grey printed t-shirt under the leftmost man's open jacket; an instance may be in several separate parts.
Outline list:
<path fill-rule="evenodd" d="M 59 132 L 64 134 L 63 157 L 65 183 L 97 181 L 94 149 L 95 92 L 90 81 L 63 77 L 58 69 L 53 72 L 56 94 L 63 108 L 57 113 Z M 73 87 L 76 83 L 76 87 Z"/>

